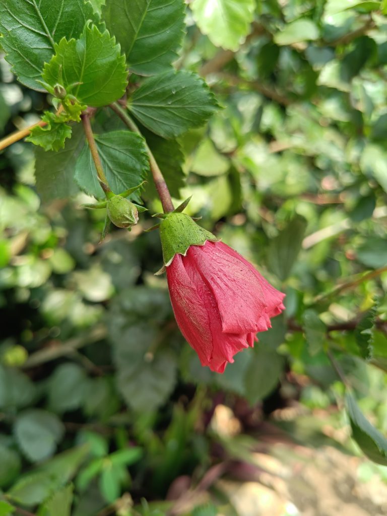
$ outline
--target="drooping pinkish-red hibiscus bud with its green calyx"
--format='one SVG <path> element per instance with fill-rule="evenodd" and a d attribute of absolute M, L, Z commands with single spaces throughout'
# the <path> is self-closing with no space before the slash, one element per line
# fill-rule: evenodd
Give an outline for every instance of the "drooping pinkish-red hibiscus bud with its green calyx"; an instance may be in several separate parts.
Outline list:
<path fill-rule="evenodd" d="M 223 373 L 235 353 L 253 346 L 257 332 L 271 328 L 285 295 L 185 214 L 168 215 L 160 235 L 179 328 L 202 365 Z"/>

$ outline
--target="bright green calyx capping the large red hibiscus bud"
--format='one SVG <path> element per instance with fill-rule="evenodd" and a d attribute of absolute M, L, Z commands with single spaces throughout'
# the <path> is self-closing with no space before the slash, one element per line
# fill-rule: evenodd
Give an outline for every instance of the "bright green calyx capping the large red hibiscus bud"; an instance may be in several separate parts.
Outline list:
<path fill-rule="evenodd" d="M 189 215 L 172 212 L 160 223 L 164 265 L 168 266 L 175 254 L 185 256 L 190 246 L 202 246 L 206 240 L 218 241 L 215 235 L 201 228 Z"/>

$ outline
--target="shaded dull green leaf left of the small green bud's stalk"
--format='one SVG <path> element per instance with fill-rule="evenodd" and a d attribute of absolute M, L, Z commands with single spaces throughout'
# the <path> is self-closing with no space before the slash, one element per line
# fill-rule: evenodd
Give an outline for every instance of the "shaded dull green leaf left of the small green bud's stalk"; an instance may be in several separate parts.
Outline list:
<path fill-rule="evenodd" d="M 77 124 L 63 150 L 35 149 L 36 188 L 44 202 L 72 197 L 79 191 L 74 181 L 74 169 L 84 142 L 82 124 Z"/>

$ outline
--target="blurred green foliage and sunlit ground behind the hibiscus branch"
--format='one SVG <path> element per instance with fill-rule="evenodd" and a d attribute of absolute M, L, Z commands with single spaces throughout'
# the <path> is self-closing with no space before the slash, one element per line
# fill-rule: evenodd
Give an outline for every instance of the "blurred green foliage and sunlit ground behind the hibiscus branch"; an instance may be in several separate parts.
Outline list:
<path fill-rule="evenodd" d="M 159 164 L 286 311 L 223 375 L 202 368 L 150 217 L 99 245 L 104 213 L 42 202 L 31 144 L 6 149 L 0 514 L 387 514 L 387 447 L 359 412 L 387 431 L 387 6 L 187 4 L 176 67 L 223 108 Z M 0 74 L 6 135 L 48 105 Z"/>

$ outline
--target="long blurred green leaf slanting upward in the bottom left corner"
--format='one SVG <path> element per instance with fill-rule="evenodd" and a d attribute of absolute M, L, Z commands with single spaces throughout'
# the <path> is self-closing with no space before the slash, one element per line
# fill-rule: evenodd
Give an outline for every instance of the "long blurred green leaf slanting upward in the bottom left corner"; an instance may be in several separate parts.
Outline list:
<path fill-rule="evenodd" d="M 79 446 L 57 455 L 27 473 L 8 491 L 12 501 L 33 507 L 66 485 L 88 454 L 88 446 Z"/>

